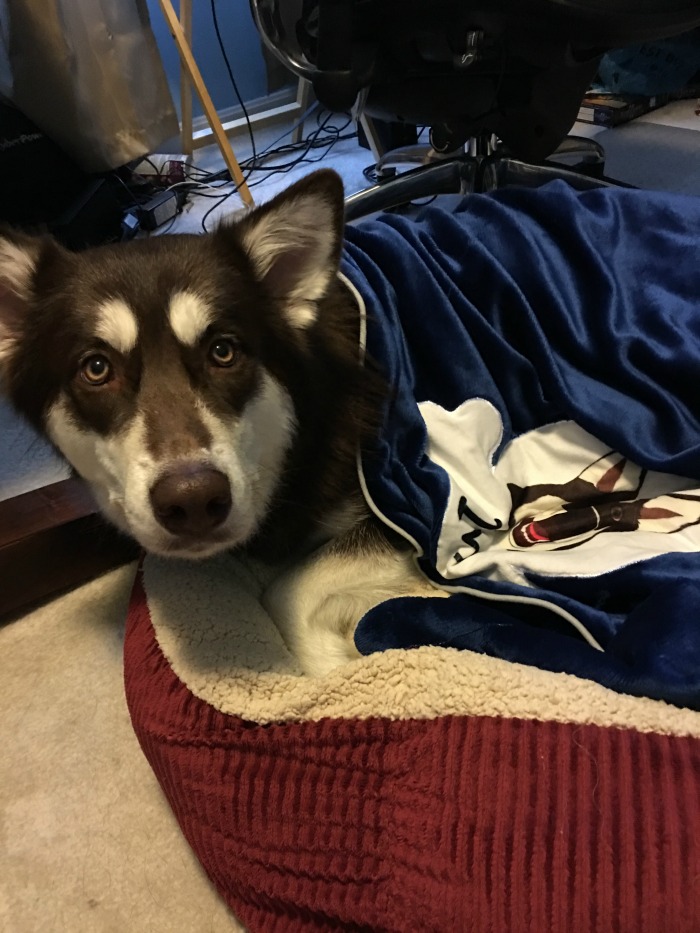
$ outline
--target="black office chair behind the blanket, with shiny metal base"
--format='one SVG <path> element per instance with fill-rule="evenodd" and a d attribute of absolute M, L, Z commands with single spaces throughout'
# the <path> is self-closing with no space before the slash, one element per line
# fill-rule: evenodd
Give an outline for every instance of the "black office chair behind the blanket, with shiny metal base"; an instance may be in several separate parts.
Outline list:
<path fill-rule="evenodd" d="M 697 0 L 251 0 L 251 9 L 263 41 L 322 104 L 353 109 L 378 157 L 378 183 L 348 198 L 348 219 L 553 177 L 609 184 L 602 148 L 567 138 L 601 57 L 700 25 Z M 375 119 L 429 126 L 430 147 L 383 153 Z"/>

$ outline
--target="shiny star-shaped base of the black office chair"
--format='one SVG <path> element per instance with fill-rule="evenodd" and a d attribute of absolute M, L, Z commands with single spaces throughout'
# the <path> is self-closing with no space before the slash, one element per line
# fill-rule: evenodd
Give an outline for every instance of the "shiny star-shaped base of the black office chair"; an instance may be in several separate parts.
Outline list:
<path fill-rule="evenodd" d="M 476 144 L 474 144 L 476 143 Z M 605 152 L 595 140 L 567 137 L 550 159 L 530 165 L 507 153 L 474 141 L 465 153 L 438 156 L 427 147 L 410 146 L 387 153 L 377 163 L 375 185 L 358 191 L 345 201 L 345 218 L 358 220 L 377 211 L 390 210 L 438 194 L 473 194 L 506 185 L 539 188 L 562 179 L 579 191 L 600 187 L 630 187 L 604 175 Z M 394 174 L 393 167 L 424 162 L 418 168 Z M 386 173 L 385 180 L 381 180 Z"/>

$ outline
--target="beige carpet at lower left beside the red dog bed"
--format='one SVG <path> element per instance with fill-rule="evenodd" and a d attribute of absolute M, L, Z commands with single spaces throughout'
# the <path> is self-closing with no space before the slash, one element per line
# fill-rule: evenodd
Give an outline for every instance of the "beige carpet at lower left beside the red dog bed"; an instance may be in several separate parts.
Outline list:
<path fill-rule="evenodd" d="M 0 930 L 241 930 L 131 730 L 122 637 L 134 568 L 0 628 Z"/>

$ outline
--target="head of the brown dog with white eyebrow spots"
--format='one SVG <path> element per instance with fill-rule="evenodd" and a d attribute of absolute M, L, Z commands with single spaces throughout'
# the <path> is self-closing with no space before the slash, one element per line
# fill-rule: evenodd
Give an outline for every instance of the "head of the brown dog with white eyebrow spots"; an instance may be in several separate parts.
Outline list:
<path fill-rule="evenodd" d="M 205 556 L 258 531 L 335 286 L 342 198 L 323 171 L 206 236 L 77 254 L 0 236 L 3 389 L 148 550 Z"/>

